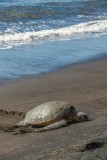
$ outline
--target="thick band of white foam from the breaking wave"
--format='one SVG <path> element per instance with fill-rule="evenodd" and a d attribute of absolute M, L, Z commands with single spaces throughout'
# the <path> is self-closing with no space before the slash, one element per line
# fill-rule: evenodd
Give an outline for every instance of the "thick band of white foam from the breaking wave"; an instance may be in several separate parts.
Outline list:
<path fill-rule="evenodd" d="M 107 34 L 107 20 L 90 21 L 69 27 L 23 33 L 4 33 L 0 35 L 1 44 L 26 44 L 33 41 L 50 41 L 68 38 L 83 38 Z"/>

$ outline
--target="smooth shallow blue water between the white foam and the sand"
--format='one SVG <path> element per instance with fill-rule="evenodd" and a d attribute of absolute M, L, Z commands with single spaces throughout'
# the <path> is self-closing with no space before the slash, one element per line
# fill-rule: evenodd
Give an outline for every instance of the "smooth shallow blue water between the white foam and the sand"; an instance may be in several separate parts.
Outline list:
<path fill-rule="evenodd" d="M 9 80 L 48 74 L 72 64 L 106 57 L 106 41 L 107 35 L 104 35 L 98 38 L 55 41 L 5 50 L 0 54 L 0 78 Z"/>

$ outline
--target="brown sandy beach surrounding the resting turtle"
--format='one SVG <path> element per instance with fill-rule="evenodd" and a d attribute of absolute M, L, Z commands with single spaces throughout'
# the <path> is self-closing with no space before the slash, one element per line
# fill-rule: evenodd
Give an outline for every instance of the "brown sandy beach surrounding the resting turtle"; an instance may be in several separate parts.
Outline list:
<path fill-rule="evenodd" d="M 26 113 L 54 100 L 71 103 L 77 111 L 86 112 L 91 121 L 43 133 L 13 135 L 1 130 L 0 160 L 107 159 L 107 58 L 0 82 L 0 109 Z M 0 115 L 0 125 L 21 118 Z"/>

